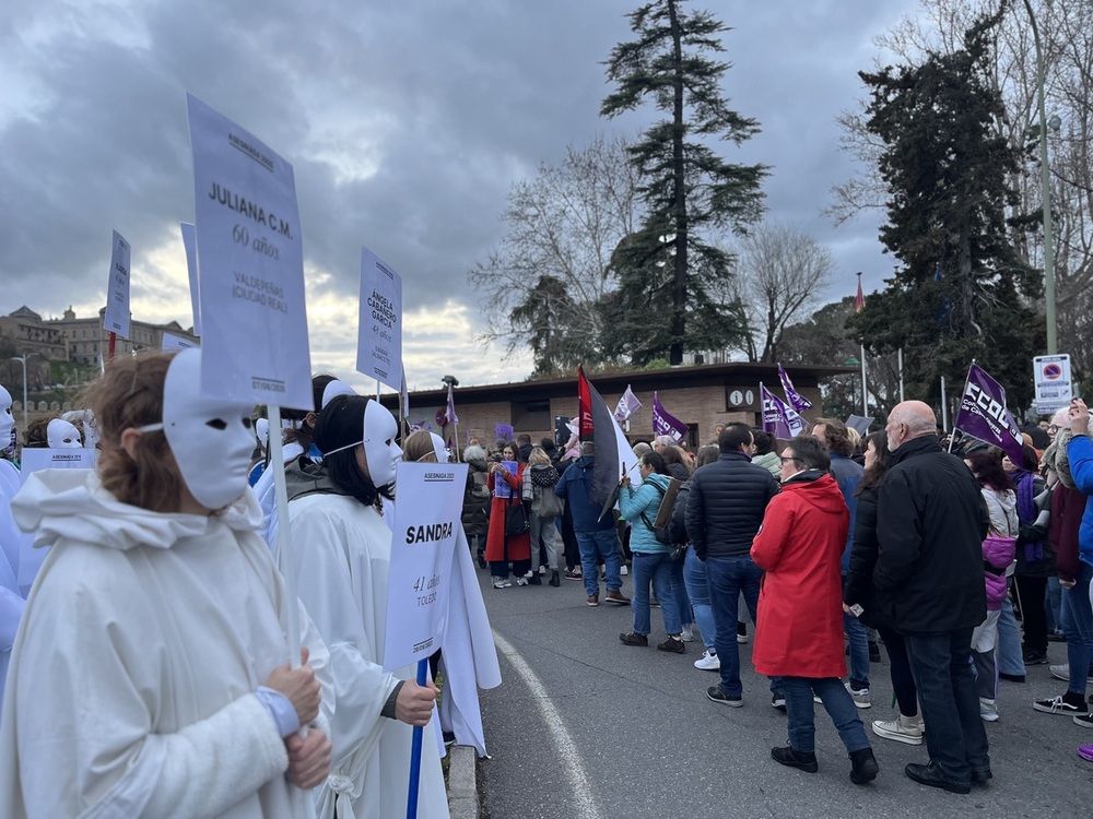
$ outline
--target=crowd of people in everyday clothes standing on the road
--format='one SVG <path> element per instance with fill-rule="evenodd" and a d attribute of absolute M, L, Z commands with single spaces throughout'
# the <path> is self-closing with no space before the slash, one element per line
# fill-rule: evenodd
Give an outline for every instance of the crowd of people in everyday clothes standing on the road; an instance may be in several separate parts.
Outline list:
<path fill-rule="evenodd" d="M 650 607 L 659 606 L 657 649 L 683 654 L 701 640 L 695 667 L 719 676 L 706 691 L 713 702 L 743 704 L 739 643 L 748 641 L 745 621 L 755 624 L 752 663 L 788 717 L 789 743 L 772 756 L 789 767 L 818 770 L 813 705 L 822 703 L 851 781 L 877 776 L 859 713 L 872 707 L 870 663 L 883 644 L 898 713 L 872 721 L 871 733 L 925 743 L 927 760 L 906 775 L 966 794 L 992 778 L 984 723 L 1000 717 L 999 680 L 1024 682 L 1026 665 L 1047 663 L 1049 640 L 1067 643 L 1070 662 L 1050 667 L 1067 690 L 1031 705 L 1093 727 L 1088 425 L 1076 400 L 1036 429 L 1043 435 L 1025 436 L 1020 459 L 959 434 L 950 440 L 916 401 L 893 407 L 885 429 L 865 438 L 834 418 L 814 419 L 780 449 L 744 424 L 693 454 L 665 436 L 634 446 L 642 483 L 623 478 L 618 515 L 590 500 L 591 442 L 574 438 L 555 450 L 550 439 L 533 447 L 525 437 L 472 448 L 486 486 L 504 479 L 513 494 L 483 508 L 471 500 L 472 480 L 468 514 L 490 518 L 481 531 L 495 589 L 510 585 L 509 566 L 518 583 L 550 571 L 557 585 L 559 553 L 542 536 L 550 532 L 589 606 L 632 606 L 623 644 L 650 644 Z M 529 485 L 532 458 L 553 468 Z M 562 510 L 533 523 L 536 536 L 507 535 L 505 508 L 520 487 L 529 502 L 551 483 Z M 633 600 L 622 593 L 627 568 Z M 1093 761 L 1093 745 L 1078 753 Z"/>

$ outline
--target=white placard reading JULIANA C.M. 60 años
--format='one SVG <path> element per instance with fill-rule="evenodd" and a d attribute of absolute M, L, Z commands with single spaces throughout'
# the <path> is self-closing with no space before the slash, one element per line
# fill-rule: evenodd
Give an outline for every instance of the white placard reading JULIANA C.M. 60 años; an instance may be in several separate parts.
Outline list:
<path fill-rule="evenodd" d="M 197 211 L 201 392 L 312 410 L 292 166 L 187 95 Z"/>

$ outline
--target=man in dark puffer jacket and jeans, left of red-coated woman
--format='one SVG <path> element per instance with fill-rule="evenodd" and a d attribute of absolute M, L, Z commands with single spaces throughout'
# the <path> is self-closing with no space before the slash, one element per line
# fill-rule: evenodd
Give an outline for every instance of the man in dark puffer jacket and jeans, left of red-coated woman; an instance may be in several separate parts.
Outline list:
<path fill-rule="evenodd" d="M 686 534 L 695 556 L 706 563 L 709 603 L 714 612 L 714 648 L 721 663 L 721 681 L 706 689 L 714 702 L 739 708 L 740 651 L 737 606 L 740 593 L 755 619 L 763 571 L 751 559 L 751 543 L 763 525 L 766 505 L 778 494 L 778 482 L 751 462 L 752 434 L 747 424 L 730 424 L 717 437 L 721 454 L 691 477 L 686 499 Z"/>

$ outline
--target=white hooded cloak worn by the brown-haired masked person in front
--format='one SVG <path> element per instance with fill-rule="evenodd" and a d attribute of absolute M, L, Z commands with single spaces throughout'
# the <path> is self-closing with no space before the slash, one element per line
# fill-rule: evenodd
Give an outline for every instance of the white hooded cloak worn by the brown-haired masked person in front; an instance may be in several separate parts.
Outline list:
<path fill-rule="evenodd" d="M 118 502 L 94 473 L 47 470 L 12 512 L 52 548 L 12 654 L 0 816 L 312 816 L 254 693 L 289 650 L 281 575 L 252 531 L 249 489 L 218 515 L 162 514 Z M 301 622 L 329 681 L 303 610 Z"/>

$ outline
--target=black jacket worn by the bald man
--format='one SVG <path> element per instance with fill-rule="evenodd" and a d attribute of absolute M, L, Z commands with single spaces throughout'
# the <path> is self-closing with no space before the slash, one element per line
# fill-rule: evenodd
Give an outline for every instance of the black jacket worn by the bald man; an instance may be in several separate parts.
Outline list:
<path fill-rule="evenodd" d="M 892 453 L 878 491 L 873 600 L 901 633 L 978 626 L 987 616 L 983 538 L 987 510 L 972 472 L 937 436 Z"/>

